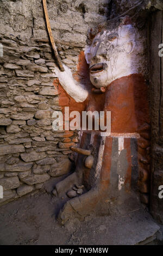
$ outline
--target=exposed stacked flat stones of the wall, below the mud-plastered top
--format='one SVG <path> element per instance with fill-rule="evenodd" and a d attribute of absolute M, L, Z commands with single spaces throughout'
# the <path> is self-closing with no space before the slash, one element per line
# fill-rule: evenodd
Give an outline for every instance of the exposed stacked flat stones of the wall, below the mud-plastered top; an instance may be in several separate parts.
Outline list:
<path fill-rule="evenodd" d="M 1 44 L 0 185 L 4 199 L 0 203 L 4 203 L 39 190 L 51 176 L 69 172 L 70 146 L 78 139 L 72 131 L 52 129 L 52 113 L 60 107 L 50 45 L 33 41 L 27 46 L 7 36 Z M 79 52 L 68 46 L 66 50 L 70 59 Z"/>

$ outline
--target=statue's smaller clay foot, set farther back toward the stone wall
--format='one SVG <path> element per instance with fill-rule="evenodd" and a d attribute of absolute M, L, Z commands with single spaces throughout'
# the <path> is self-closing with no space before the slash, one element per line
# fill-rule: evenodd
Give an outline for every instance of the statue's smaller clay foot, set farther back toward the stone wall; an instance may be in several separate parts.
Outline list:
<path fill-rule="evenodd" d="M 66 193 L 70 188 L 72 188 L 75 184 L 78 183 L 76 172 L 69 175 L 66 179 L 60 181 L 55 186 L 53 190 L 54 196 L 62 196 L 62 194 Z"/>

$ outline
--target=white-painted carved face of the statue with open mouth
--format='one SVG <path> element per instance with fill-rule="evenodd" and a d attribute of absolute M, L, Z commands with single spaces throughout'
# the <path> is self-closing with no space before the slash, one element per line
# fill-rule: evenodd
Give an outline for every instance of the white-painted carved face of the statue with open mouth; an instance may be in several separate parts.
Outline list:
<path fill-rule="evenodd" d="M 117 78 L 136 73 L 131 61 L 131 53 L 136 48 L 135 36 L 131 25 L 105 30 L 95 36 L 85 52 L 93 86 L 106 87 Z"/>

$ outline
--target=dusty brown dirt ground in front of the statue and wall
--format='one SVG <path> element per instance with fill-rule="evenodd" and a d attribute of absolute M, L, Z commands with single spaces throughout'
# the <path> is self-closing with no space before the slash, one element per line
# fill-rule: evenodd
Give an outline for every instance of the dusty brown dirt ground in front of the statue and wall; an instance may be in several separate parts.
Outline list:
<path fill-rule="evenodd" d="M 144 209 L 127 216 L 88 216 L 63 227 L 56 220 L 58 204 L 46 190 L 1 206 L 0 245 L 135 245 L 156 238 L 160 228 Z"/>

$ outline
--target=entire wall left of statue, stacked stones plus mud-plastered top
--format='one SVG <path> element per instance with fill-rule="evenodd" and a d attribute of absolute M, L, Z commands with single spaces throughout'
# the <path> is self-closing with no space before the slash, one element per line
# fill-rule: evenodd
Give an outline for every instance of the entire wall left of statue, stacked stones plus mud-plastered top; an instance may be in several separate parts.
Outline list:
<path fill-rule="evenodd" d="M 62 62 L 76 71 L 90 25 L 106 20 L 109 0 L 49 0 L 51 26 Z M 70 171 L 70 145 L 78 135 L 52 130 L 60 110 L 52 70 L 55 61 L 41 0 L 0 3 L 0 185 L 4 199 L 39 190 Z M 2 57 L 3 49 L 3 57 Z"/>

